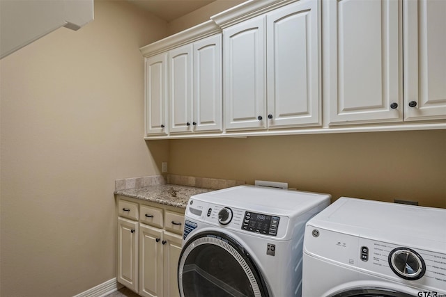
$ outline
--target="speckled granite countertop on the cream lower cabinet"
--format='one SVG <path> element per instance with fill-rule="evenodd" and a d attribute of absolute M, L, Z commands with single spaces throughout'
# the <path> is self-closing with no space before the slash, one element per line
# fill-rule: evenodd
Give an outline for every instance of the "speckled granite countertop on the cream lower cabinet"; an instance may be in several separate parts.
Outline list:
<path fill-rule="evenodd" d="M 194 186 L 178 186 L 176 184 L 159 184 L 142 188 L 117 190 L 116 195 L 156 202 L 160 204 L 185 209 L 187 201 L 192 195 L 214 191 L 210 188 L 196 188 Z"/>

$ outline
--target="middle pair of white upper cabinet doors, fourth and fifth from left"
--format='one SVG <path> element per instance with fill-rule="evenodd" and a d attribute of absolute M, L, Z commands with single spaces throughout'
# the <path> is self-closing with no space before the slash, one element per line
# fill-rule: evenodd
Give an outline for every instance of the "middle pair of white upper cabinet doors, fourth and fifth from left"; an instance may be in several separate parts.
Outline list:
<path fill-rule="evenodd" d="M 318 24 L 308 0 L 224 29 L 227 130 L 321 125 Z"/>

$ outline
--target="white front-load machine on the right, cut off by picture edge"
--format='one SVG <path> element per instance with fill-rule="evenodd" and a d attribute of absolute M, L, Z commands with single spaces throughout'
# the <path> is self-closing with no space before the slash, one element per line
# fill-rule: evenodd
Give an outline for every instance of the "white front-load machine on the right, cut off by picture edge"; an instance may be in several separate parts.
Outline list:
<path fill-rule="evenodd" d="M 339 198 L 303 252 L 305 297 L 446 296 L 446 209 Z"/>

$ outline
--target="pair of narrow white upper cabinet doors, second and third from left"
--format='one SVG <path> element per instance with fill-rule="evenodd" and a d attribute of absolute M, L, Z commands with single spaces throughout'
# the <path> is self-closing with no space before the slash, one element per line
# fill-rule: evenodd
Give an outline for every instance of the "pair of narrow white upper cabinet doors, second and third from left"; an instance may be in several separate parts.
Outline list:
<path fill-rule="evenodd" d="M 170 132 L 222 131 L 222 35 L 169 51 Z"/>

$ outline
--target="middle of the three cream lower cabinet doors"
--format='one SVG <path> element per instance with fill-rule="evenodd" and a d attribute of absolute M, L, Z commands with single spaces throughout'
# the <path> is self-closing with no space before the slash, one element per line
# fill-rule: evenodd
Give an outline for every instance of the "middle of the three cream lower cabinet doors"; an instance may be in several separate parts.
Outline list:
<path fill-rule="evenodd" d="M 162 230 L 141 223 L 139 228 L 139 294 L 163 296 Z"/>

